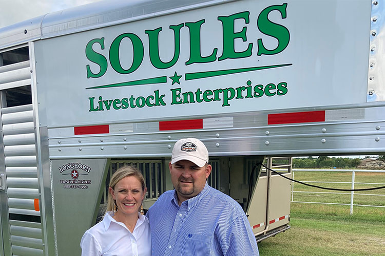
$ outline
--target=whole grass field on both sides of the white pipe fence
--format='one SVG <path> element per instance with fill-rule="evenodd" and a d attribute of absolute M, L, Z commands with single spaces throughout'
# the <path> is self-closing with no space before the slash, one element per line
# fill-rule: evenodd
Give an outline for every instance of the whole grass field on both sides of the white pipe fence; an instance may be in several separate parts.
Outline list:
<path fill-rule="evenodd" d="M 351 181 L 351 173 L 295 173 L 302 181 Z M 356 174 L 356 182 L 385 183 L 385 173 Z M 349 184 L 317 184 L 350 188 Z M 380 185 L 362 184 L 356 188 Z M 325 191 L 296 184 L 294 190 Z M 385 189 L 360 192 L 385 195 Z M 383 205 L 383 196 L 354 196 L 355 204 Z M 295 194 L 294 201 L 350 203 L 350 195 Z M 385 256 L 385 208 L 349 205 L 291 204 L 291 228 L 258 244 L 261 256 Z"/>

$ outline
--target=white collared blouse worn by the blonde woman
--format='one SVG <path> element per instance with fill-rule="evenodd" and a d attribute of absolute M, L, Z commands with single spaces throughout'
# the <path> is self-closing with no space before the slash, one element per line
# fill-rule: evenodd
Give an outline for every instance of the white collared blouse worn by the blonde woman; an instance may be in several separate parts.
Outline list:
<path fill-rule="evenodd" d="M 122 222 L 107 212 L 103 220 L 88 229 L 80 242 L 82 256 L 150 256 L 151 236 L 146 216 L 139 219 L 131 233 Z"/>

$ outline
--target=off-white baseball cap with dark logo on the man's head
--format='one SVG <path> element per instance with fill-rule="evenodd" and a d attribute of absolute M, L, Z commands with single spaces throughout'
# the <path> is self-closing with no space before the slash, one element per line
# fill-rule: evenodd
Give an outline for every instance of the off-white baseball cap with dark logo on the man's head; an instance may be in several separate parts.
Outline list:
<path fill-rule="evenodd" d="M 171 164 L 180 160 L 188 160 L 199 167 L 208 163 L 208 151 L 202 141 L 196 138 L 178 140 L 172 148 Z"/>

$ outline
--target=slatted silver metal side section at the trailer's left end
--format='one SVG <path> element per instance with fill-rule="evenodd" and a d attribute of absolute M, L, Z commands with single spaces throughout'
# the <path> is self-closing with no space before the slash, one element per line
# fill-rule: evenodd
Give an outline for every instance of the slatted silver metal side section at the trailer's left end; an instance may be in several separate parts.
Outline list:
<path fill-rule="evenodd" d="M 20 102 L 7 107 L 12 94 L 30 90 L 29 71 L 29 61 L 0 67 L 0 174 L 4 177 L 0 205 L 7 256 L 44 255 L 32 104 Z"/>

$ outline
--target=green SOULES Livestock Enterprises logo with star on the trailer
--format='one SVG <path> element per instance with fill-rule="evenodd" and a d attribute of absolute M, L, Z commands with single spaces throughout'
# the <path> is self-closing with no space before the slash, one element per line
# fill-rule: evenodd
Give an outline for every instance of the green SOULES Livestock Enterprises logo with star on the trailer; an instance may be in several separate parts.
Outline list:
<path fill-rule="evenodd" d="M 272 22 L 269 19 L 269 14 L 277 13 L 281 19 L 286 18 L 287 4 L 273 5 L 263 9 L 257 18 L 256 29 L 262 34 L 268 37 L 274 38 L 277 41 L 277 45 L 274 49 L 269 47 L 267 49 L 266 44 L 262 38 L 257 39 L 257 44 L 249 42 L 247 44 L 247 27 L 249 24 L 249 11 L 243 11 L 235 13 L 229 16 L 218 16 L 218 23 L 222 26 L 222 53 L 220 56 L 218 48 L 214 48 L 211 54 L 202 56 L 202 46 L 207 38 L 201 40 L 201 29 L 205 26 L 206 20 L 201 19 L 197 22 L 186 22 L 179 25 L 170 25 L 169 29 L 174 32 L 174 46 L 170 45 L 169 48 L 174 49 L 174 56 L 168 62 L 161 60 L 160 54 L 160 40 L 159 34 L 163 30 L 163 27 L 159 27 L 153 30 L 144 30 L 148 39 L 148 48 L 144 47 L 143 40 L 134 33 L 123 33 L 111 40 L 109 49 L 106 49 L 107 39 L 104 37 L 91 39 L 85 47 L 85 56 L 92 62 L 92 65 L 86 65 L 86 74 L 88 79 L 102 78 L 107 69 L 113 70 L 118 75 L 128 75 L 138 69 L 145 58 L 145 49 L 148 49 L 148 58 L 153 68 L 158 70 L 169 69 L 166 75 L 157 77 L 143 77 L 143 79 L 136 79 L 126 82 L 109 83 L 100 86 L 88 87 L 86 90 L 95 89 L 108 89 L 127 86 L 148 86 L 154 84 L 166 84 L 171 83 L 169 94 L 161 93 L 160 90 L 154 90 L 147 95 L 140 95 L 138 91 L 136 93 L 128 95 L 119 95 L 114 98 L 104 98 L 101 94 L 90 95 L 88 97 L 89 112 L 100 112 L 109 110 L 124 110 L 145 108 L 153 106 L 165 106 L 180 105 L 180 104 L 197 104 L 202 102 L 218 102 L 222 107 L 230 106 L 234 100 L 252 99 L 260 97 L 279 97 L 284 96 L 288 92 L 288 85 L 286 81 L 272 81 L 265 84 L 256 83 L 252 79 L 245 78 L 244 81 L 240 81 L 235 86 L 228 87 L 222 83 L 222 86 L 218 85 L 215 89 L 198 88 L 194 90 L 187 90 L 188 81 L 198 80 L 205 78 L 220 77 L 232 74 L 239 74 L 245 72 L 255 72 L 268 69 L 284 68 L 292 66 L 292 63 L 279 63 L 271 66 L 254 66 L 254 67 L 242 67 L 235 69 L 221 69 L 221 70 L 207 70 L 200 72 L 184 72 L 179 73 L 178 66 L 175 70 L 171 69 L 179 61 L 181 50 L 187 46 L 187 44 L 181 44 L 181 30 L 188 29 L 189 31 L 189 58 L 184 60 L 183 70 L 186 67 L 192 65 L 199 65 L 201 63 L 213 62 L 211 67 L 215 67 L 216 61 L 233 61 L 241 58 L 249 58 L 253 56 L 262 55 L 276 55 L 283 52 L 290 41 L 290 33 L 283 25 Z M 238 27 L 236 26 L 238 24 Z M 239 29 L 239 24 L 243 24 Z M 208 38 L 209 39 L 209 38 Z M 123 41 L 124 40 L 124 41 Z M 242 44 L 242 42 L 243 44 Z M 130 67 L 122 67 L 122 60 L 126 52 L 121 52 L 121 44 L 130 43 L 132 47 L 132 60 L 130 60 Z M 246 42 L 246 43 L 245 43 Z M 237 46 L 237 47 L 236 47 Z M 243 48 L 243 50 L 239 50 Z M 253 50 L 257 48 L 256 53 Z M 256 62 L 255 62 L 256 63 Z M 91 64 L 91 63 L 90 63 Z M 180 64 L 179 64 L 180 65 Z M 239 65 L 239 64 L 238 64 Z M 179 66 L 181 67 L 181 66 Z M 230 66 L 231 67 L 231 66 Z M 151 71 L 144 74 L 151 74 Z M 184 82 L 183 82 L 184 80 Z M 215 80 L 214 80 L 215 81 Z M 202 85 L 207 84 L 202 82 Z M 211 81 L 213 82 L 213 81 Z M 181 83 L 185 83 L 186 86 L 181 86 Z M 178 86 L 176 86 L 178 84 Z M 211 84 L 212 86 L 212 84 Z M 213 87 L 211 87 L 213 88 Z"/>

